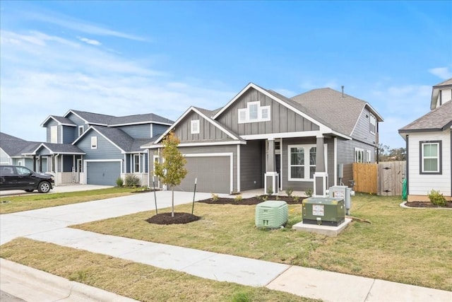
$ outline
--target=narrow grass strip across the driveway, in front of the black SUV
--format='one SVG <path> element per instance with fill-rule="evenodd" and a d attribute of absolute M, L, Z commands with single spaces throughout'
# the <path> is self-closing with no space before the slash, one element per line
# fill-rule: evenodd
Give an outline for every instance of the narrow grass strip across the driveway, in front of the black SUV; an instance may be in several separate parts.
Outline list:
<path fill-rule="evenodd" d="M 132 194 L 131 188 L 111 187 L 107 189 L 88 190 L 52 194 L 25 194 L 21 196 L 0 197 L 0 214 L 42 209 L 47 207 L 90 202 L 98 199 L 107 199 Z"/>

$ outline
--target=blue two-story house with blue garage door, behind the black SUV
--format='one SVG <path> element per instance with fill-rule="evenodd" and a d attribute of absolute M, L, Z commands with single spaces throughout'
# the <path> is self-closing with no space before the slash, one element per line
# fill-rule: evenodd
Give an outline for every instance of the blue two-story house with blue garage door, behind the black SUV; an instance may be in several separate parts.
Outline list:
<path fill-rule="evenodd" d="M 31 144 L 19 139 L 10 144 L 2 140 L 1 147 L 16 146 L 12 153 L 23 161 L 15 163 L 53 174 L 55 185 L 116 185 L 117 178 L 127 174 L 138 176 L 141 185 L 149 185 L 147 150 L 140 146 L 160 136 L 172 123 L 153 113 L 114 117 L 69 110 L 62 117 L 50 115 L 42 122 L 46 142 Z"/>

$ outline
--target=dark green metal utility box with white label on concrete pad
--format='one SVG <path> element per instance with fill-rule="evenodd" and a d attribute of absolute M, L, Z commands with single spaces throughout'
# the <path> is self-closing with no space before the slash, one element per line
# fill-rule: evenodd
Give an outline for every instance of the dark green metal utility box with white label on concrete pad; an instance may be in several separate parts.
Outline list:
<path fill-rule="evenodd" d="M 339 226 L 344 221 L 344 199 L 309 197 L 303 200 L 303 223 Z"/>

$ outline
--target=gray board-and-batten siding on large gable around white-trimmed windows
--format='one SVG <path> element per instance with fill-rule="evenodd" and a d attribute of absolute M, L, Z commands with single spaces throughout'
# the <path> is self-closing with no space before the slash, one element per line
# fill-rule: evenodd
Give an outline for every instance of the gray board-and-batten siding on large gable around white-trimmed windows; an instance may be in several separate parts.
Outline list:
<path fill-rule="evenodd" d="M 247 103 L 256 101 L 259 101 L 261 106 L 270 106 L 270 121 L 239 124 L 238 110 L 246 108 Z M 239 135 L 319 130 L 319 125 L 297 115 L 297 113 L 254 88 L 245 91 L 238 100 L 217 117 L 217 120 L 227 129 L 231 129 L 232 132 Z"/>

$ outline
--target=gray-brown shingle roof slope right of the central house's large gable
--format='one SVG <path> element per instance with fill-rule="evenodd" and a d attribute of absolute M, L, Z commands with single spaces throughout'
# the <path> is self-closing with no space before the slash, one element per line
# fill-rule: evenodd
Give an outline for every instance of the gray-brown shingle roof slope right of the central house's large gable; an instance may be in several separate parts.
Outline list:
<path fill-rule="evenodd" d="M 332 129 L 351 135 L 362 110 L 368 103 L 331 88 L 319 88 L 292 97 L 307 108 L 308 115 L 327 121 Z M 369 108 L 370 110 L 370 108 Z M 373 111 L 373 110 L 371 110 Z M 376 118 L 380 121 L 377 112 Z"/>

